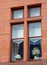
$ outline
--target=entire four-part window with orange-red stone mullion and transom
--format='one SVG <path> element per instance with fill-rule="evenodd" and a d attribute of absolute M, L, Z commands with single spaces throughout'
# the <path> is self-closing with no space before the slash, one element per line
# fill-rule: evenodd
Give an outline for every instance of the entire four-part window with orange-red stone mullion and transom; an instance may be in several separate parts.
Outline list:
<path fill-rule="evenodd" d="M 25 17 L 26 12 L 27 18 Z M 33 60 L 42 58 L 40 15 L 41 4 L 28 5 L 25 7 L 20 6 L 20 8 L 12 8 L 12 18 L 18 19 L 17 22 L 16 20 L 12 20 L 16 23 L 12 24 L 12 61 L 22 60 L 23 54 L 24 60 L 29 60 L 29 57 Z M 26 23 L 24 17 L 26 19 Z M 25 57 L 27 56 L 28 58 L 25 59 Z"/>

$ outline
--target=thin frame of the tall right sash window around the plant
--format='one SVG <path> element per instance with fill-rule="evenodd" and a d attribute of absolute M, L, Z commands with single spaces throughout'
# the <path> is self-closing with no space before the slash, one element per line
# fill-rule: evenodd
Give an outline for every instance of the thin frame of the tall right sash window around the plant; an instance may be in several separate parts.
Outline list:
<path fill-rule="evenodd" d="M 33 22 L 28 22 L 28 30 L 29 30 L 29 23 L 37 23 L 37 22 L 41 23 L 41 20 L 37 20 L 37 21 L 33 21 Z M 41 36 L 30 36 L 30 37 L 28 37 L 28 39 L 30 39 L 30 38 L 41 38 L 41 40 L 42 40 L 42 35 Z M 42 51 L 42 44 L 41 44 L 41 51 Z M 37 60 L 30 59 L 30 45 L 29 45 L 29 61 L 38 61 L 38 60 L 42 60 L 42 59 L 37 59 Z"/>

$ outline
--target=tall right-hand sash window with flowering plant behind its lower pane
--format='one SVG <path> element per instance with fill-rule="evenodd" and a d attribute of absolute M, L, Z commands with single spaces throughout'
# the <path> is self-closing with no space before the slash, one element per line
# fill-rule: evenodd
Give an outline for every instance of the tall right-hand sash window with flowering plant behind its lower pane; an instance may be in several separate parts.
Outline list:
<path fill-rule="evenodd" d="M 41 22 L 29 23 L 30 59 L 41 59 Z"/>

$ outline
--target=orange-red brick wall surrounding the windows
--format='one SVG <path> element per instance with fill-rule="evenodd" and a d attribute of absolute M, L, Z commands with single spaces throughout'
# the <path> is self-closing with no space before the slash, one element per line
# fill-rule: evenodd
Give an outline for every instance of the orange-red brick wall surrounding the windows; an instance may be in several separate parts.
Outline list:
<path fill-rule="evenodd" d="M 42 59 L 47 59 L 47 0 L 0 0 L 0 62 L 9 62 L 11 53 L 11 8 L 41 3 Z M 27 12 L 26 12 L 27 13 Z M 26 17 L 26 14 L 25 14 Z M 27 17 L 26 17 L 27 18 Z"/>

